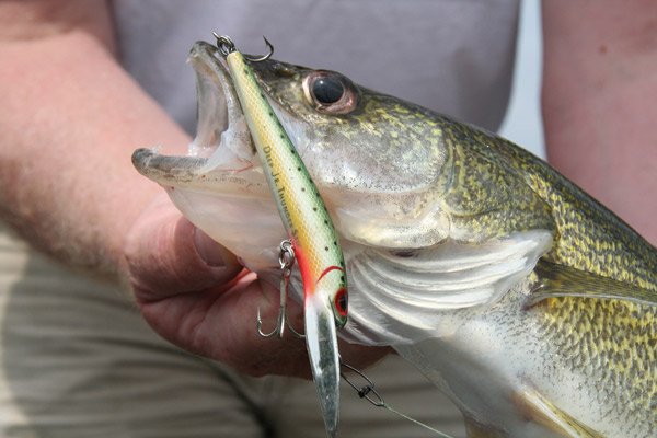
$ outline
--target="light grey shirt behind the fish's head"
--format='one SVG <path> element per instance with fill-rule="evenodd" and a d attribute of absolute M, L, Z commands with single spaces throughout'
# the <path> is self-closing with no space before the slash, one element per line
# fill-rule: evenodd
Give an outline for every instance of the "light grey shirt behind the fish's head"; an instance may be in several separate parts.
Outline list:
<path fill-rule="evenodd" d="M 245 53 L 339 71 L 491 130 L 512 77 L 517 0 L 115 0 L 125 68 L 189 132 L 192 44 L 230 35 Z"/>

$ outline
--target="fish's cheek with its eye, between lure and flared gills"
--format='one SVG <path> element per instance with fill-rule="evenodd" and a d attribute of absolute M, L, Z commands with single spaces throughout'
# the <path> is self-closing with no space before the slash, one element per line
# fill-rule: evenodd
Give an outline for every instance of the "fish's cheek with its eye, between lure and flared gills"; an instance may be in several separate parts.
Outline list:
<path fill-rule="evenodd" d="M 407 250 L 447 237 L 447 151 L 426 110 L 334 71 L 276 60 L 254 70 L 345 239 Z"/>

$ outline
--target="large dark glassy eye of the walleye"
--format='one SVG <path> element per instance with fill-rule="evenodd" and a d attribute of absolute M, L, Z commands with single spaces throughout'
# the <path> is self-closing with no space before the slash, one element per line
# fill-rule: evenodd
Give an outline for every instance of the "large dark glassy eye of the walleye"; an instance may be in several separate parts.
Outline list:
<path fill-rule="evenodd" d="M 308 102 L 322 114 L 348 114 L 358 106 L 359 93 L 354 83 L 344 76 L 316 70 L 303 80 L 303 93 Z"/>

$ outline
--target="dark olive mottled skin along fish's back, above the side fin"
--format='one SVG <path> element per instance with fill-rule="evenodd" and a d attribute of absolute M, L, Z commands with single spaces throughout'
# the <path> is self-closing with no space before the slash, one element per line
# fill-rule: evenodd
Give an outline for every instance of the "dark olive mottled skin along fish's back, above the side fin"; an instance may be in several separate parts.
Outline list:
<path fill-rule="evenodd" d="M 511 231 L 548 229 L 556 234 L 545 258 L 554 263 L 657 290 L 657 252 L 618 216 L 543 160 L 492 132 L 361 88 L 362 104 L 346 116 L 313 112 L 301 80 L 313 71 L 279 61 L 255 66 L 263 85 L 283 107 L 309 125 L 331 131 L 333 141 L 371 142 L 377 157 L 415 172 L 406 160 L 415 145 L 446 157 L 435 184 L 448 193 L 453 221 L 465 229 L 461 240 L 482 241 Z M 327 126 L 323 126 L 327 125 Z M 428 146 L 427 146 L 428 145 Z M 413 154 L 417 160 L 420 154 Z M 427 160 L 434 160 L 427 155 Z"/>

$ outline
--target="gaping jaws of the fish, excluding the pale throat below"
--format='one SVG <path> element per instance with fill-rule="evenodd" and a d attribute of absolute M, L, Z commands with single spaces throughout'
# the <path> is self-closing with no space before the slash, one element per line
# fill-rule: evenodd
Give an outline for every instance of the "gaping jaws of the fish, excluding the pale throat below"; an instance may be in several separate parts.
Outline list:
<path fill-rule="evenodd" d="M 198 42 L 188 61 L 196 72 L 197 131 L 187 155 L 160 154 L 157 148 L 138 149 L 135 168 L 164 188 L 188 187 L 266 196 L 265 178 L 230 74 L 217 48 Z"/>

